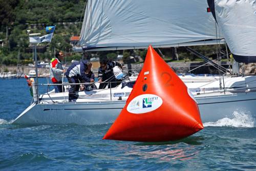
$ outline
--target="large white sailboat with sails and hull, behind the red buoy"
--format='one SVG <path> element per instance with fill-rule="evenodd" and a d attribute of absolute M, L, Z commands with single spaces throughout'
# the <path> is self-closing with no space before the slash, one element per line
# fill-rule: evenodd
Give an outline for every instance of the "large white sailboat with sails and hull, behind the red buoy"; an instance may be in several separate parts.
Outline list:
<path fill-rule="evenodd" d="M 89 0 L 74 51 L 227 44 L 234 59 L 254 62 L 255 9 L 251 1 L 234 0 Z M 194 95 L 203 123 L 232 118 L 234 112 L 249 112 L 256 118 L 256 76 L 180 78 Z M 112 89 L 79 92 L 77 102 L 68 102 L 67 92 L 35 93 L 34 103 L 13 123 L 112 123 L 131 91 L 120 84 Z"/>

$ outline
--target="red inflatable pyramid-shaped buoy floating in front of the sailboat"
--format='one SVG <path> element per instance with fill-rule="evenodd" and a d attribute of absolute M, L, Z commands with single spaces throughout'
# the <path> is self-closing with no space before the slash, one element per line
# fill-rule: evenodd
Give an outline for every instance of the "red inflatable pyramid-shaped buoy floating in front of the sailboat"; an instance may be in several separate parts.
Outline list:
<path fill-rule="evenodd" d="M 196 101 L 150 46 L 126 105 L 103 139 L 171 141 L 202 129 Z"/>

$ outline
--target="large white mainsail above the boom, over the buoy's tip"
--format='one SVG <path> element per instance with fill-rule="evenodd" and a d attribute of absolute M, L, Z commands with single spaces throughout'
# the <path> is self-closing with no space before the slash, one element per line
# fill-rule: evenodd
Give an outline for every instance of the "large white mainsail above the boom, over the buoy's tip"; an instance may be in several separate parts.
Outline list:
<path fill-rule="evenodd" d="M 199 0 L 89 0 L 78 47 L 139 49 L 150 44 L 205 45 L 202 40 L 212 39 L 210 44 L 216 44 L 222 35 L 218 28 L 216 35 L 216 22 L 207 7 Z"/>

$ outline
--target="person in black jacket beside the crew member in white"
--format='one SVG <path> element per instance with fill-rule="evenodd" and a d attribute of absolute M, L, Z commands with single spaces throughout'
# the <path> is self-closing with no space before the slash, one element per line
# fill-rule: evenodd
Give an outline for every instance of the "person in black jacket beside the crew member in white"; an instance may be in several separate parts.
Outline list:
<path fill-rule="evenodd" d="M 100 63 L 100 67 L 98 71 L 98 81 L 100 82 L 99 89 L 105 89 L 105 87 L 108 85 L 108 82 L 111 83 L 111 88 L 117 87 L 121 83 L 121 80 L 116 79 L 113 72 L 113 68 L 115 66 L 122 68 L 121 63 L 119 63 L 118 61 L 108 61 L 107 59 L 101 59 L 99 63 Z M 106 82 L 102 82 L 102 81 L 106 81 Z"/>

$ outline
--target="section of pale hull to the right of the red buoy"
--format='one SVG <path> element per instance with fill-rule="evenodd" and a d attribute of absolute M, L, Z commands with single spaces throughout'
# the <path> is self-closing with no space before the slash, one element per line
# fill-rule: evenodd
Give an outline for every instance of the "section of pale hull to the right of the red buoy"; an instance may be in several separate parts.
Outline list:
<path fill-rule="evenodd" d="M 202 122 L 234 117 L 234 112 L 256 118 L 256 92 L 196 97 Z"/>

